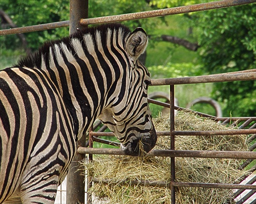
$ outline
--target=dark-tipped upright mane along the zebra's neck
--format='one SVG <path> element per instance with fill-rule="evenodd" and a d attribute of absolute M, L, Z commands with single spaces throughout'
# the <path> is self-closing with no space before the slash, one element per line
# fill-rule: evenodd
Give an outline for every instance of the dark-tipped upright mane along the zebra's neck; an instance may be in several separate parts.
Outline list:
<path fill-rule="evenodd" d="M 108 31 L 114 31 L 114 30 L 121 30 L 122 35 L 123 35 L 123 40 L 127 35 L 131 33 L 131 30 L 127 28 L 126 26 L 122 24 L 104 24 L 100 26 L 95 26 L 91 28 L 87 28 L 84 30 L 78 30 L 74 34 L 72 34 L 69 37 L 64 37 L 61 39 L 57 40 L 51 40 L 51 41 L 46 41 L 42 47 L 40 47 L 37 51 L 35 51 L 33 54 L 30 54 L 24 58 L 21 58 L 18 60 L 17 64 L 15 64 L 13 67 L 29 67 L 29 68 L 37 68 L 40 69 L 41 67 L 41 61 L 42 61 L 42 56 L 44 56 L 44 60 L 46 61 L 46 66 L 48 66 L 49 60 L 49 54 L 51 52 L 51 48 L 53 48 L 56 44 L 60 43 L 65 43 L 67 48 L 69 50 L 73 50 L 73 43 L 72 39 L 77 38 L 80 41 L 83 40 L 84 35 L 90 35 L 92 36 L 92 43 L 94 46 L 96 46 L 97 42 L 97 36 L 100 35 L 100 41 L 101 41 L 101 46 L 104 47 L 107 41 L 107 32 Z M 111 35 L 111 38 L 113 39 L 113 35 Z M 89 47 L 86 45 L 86 48 L 83 49 L 89 49 Z"/>

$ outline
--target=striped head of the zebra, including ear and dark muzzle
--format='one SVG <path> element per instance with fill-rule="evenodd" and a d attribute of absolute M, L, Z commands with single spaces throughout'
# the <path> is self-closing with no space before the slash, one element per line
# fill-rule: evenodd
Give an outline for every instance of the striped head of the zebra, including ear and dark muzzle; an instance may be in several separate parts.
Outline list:
<path fill-rule="evenodd" d="M 149 152 L 157 141 L 147 103 L 150 73 L 138 60 L 146 49 L 147 34 L 137 28 L 124 39 L 124 62 L 120 62 L 124 73 L 117 82 L 111 104 L 102 111 L 99 119 L 115 133 L 125 154 L 138 156 Z"/>

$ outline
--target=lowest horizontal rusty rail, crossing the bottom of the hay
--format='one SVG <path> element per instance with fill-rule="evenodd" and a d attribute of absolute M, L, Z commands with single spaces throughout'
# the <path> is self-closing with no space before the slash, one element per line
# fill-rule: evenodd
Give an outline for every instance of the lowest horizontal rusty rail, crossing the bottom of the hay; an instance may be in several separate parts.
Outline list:
<path fill-rule="evenodd" d="M 113 180 L 111 179 L 98 179 L 93 178 L 93 182 L 96 183 L 105 183 L 111 184 Z M 176 187 L 197 187 L 197 188 L 219 188 L 219 189 L 256 189 L 255 185 L 242 185 L 242 184 L 204 184 L 204 183 L 187 183 L 187 182 L 164 182 L 158 180 L 116 180 L 117 184 L 134 184 L 134 185 L 141 185 L 141 186 L 157 186 L 157 187 L 166 187 L 170 186 L 171 184 Z"/>

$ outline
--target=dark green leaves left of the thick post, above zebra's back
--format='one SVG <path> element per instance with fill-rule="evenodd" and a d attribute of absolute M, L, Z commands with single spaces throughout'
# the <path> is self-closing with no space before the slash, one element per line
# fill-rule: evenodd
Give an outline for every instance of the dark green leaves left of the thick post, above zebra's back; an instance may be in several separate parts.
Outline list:
<path fill-rule="evenodd" d="M 3 9 L 12 19 L 17 27 L 46 24 L 69 19 L 69 0 L 59 1 L 22 1 L 22 0 L 1 0 L 0 8 Z M 25 33 L 28 46 L 35 50 L 46 40 L 57 39 L 67 36 L 68 28 L 58 28 L 47 31 Z M 15 35 L 1 36 L 1 48 L 17 47 Z"/>

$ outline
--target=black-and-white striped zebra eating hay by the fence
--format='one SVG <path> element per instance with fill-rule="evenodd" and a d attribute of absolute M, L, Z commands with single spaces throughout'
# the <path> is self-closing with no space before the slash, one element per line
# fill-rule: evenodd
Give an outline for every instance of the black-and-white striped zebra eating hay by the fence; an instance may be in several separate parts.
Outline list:
<path fill-rule="evenodd" d="M 156 144 L 142 28 L 121 24 L 48 41 L 0 72 L 0 203 L 54 203 L 76 141 L 98 118 L 127 155 Z"/>

